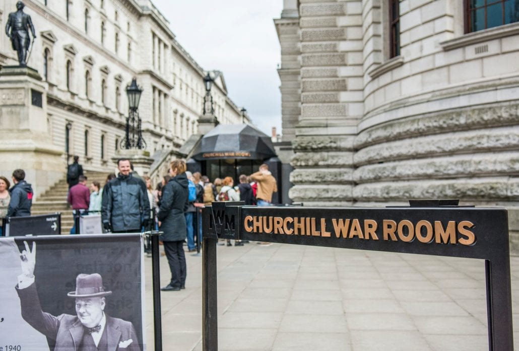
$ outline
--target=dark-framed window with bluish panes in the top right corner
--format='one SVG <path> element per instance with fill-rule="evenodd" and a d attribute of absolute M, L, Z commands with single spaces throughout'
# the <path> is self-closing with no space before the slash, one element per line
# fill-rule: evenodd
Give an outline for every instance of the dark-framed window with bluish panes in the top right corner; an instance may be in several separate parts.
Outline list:
<path fill-rule="evenodd" d="M 477 32 L 519 22 L 517 0 L 466 0 L 466 32 Z"/>

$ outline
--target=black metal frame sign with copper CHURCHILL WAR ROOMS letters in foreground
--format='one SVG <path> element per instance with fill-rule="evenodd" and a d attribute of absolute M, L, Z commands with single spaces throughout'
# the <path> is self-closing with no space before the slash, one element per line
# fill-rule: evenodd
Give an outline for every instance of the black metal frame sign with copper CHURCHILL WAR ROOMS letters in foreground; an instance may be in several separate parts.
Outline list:
<path fill-rule="evenodd" d="M 508 213 L 458 206 L 255 207 L 203 211 L 203 350 L 217 350 L 217 238 L 485 260 L 490 351 L 513 350 Z"/>

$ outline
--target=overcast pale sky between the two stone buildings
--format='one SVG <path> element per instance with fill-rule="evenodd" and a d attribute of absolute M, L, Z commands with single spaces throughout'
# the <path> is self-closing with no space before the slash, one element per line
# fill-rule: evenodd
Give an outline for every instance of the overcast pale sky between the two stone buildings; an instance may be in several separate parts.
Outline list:
<path fill-rule="evenodd" d="M 282 0 L 152 0 L 176 40 L 202 66 L 223 72 L 229 97 L 267 135 L 281 133 L 281 61 L 274 18 Z M 200 107 L 201 108 L 201 107 Z"/>

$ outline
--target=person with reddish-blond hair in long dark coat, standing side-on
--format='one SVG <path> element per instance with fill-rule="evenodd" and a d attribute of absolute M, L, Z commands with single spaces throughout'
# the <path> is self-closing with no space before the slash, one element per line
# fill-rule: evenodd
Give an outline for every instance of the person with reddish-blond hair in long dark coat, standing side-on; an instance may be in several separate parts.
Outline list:
<path fill-rule="evenodd" d="M 171 270 L 171 282 L 161 288 L 162 291 L 178 291 L 185 289 L 186 257 L 183 243 L 186 239 L 186 220 L 184 211 L 187 208 L 187 177 L 186 163 L 182 160 L 171 162 L 169 174 L 171 179 L 162 188 L 159 213 L 157 214 L 160 227 L 164 234 L 160 240 L 164 243 L 164 250 Z"/>

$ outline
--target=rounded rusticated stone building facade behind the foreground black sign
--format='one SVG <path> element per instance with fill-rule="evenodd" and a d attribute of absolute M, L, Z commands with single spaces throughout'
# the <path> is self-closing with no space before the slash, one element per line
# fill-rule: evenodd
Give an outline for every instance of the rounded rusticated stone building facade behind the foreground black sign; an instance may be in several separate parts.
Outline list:
<path fill-rule="evenodd" d="M 293 201 L 457 198 L 519 227 L 519 5 L 471 4 L 284 0 Z"/>

